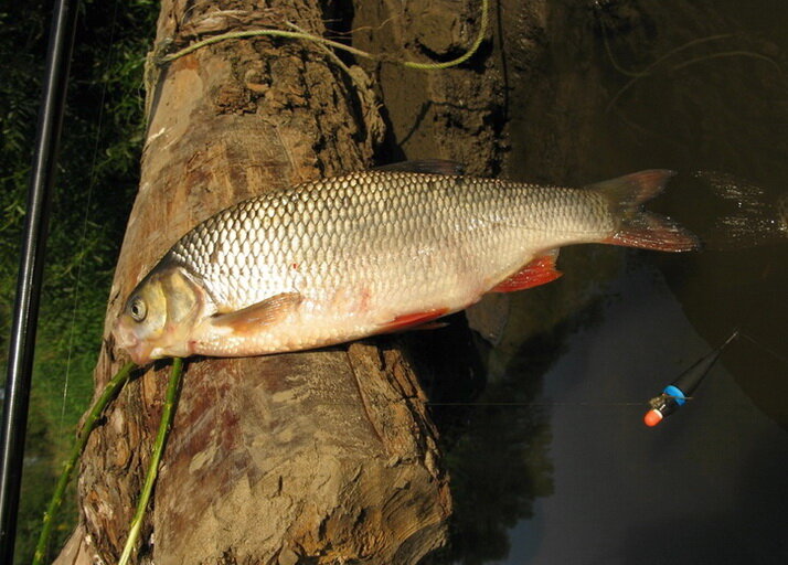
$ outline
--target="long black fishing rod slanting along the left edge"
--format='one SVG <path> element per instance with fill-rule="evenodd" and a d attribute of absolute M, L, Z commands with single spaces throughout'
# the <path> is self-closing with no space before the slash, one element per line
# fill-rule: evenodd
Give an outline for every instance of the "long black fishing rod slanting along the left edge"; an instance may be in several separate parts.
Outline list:
<path fill-rule="evenodd" d="M 19 491 L 49 211 L 74 45 L 78 0 L 55 0 L 39 109 L 9 345 L 0 446 L 0 563 L 13 563 Z"/>

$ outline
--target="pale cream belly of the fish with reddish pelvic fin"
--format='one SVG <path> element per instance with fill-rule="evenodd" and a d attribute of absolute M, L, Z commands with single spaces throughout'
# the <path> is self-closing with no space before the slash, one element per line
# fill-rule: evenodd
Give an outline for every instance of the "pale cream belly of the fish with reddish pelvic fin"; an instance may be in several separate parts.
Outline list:
<path fill-rule="evenodd" d="M 430 246 L 384 253 L 305 282 L 304 301 L 286 319 L 247 333 L 209 328 L 195 353 L 251 355 L 313 349 L 368 335 L 405 330 L 476 303 L 497 282 L 534 256 L 524 246 L 469 249 Z M 423 253 L 427 247 L 430 252 Z M 312 280 L 312 284 L 307 282 Z M 322 281 L 322 282 L 318 282 Z"/>

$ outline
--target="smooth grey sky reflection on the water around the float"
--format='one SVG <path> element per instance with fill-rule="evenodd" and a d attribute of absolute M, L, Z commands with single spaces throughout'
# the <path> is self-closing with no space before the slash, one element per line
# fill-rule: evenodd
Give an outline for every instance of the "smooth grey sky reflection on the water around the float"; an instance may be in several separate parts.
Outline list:
<path fill-rule="evenodd" d="M 639 254 L 606 298 L 601 323 L 568 334 L 544 375 L 554 493 L 490 563 L 779 563 L 785 431 L 742 394 L 727 356 L 692 405 L 646 428 L 649 391 L 710 345 Z"/>

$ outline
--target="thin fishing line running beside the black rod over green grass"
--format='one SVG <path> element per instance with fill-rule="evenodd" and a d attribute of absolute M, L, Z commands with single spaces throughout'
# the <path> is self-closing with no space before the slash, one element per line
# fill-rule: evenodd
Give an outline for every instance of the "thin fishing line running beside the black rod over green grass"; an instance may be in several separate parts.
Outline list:
<path fill-rule="evenodd" d="M 115 62 L 115 54 L 113 52 L 113 46 L 115 44 L 115 30 L 117 26 L 117 19 L 118 19 L 118 0 L 115 0 L 115 8 L 113 10 L 113 20 L 109 26 L 109 47 L 107 50 L 108 57 L 107 57 L 107 63 L 106 63 L 106 68 L 104 76 L 109 76 L 109 71 L 111 68 L 113 63 Z M 106 100 L 107 96 L 107 79 L 102 81 L 102 94 L 99 97 L 98 102 L 98 120 L 96 124 L 96 140 L 93 143 L 93 158 L 90 160 L 90 178 L 87 183 L 87 202 L 85 204 L 85 217 L 83 220 L 82 224 L 82 236 L 79 238 L 79 260 L 77 262 L 77 268 L 76 268 L 76 280 L 74 282 L 74 307 L 72 308 L 72 316 L 71 316 L 71 330 L 68 332 L 68 353 L 66 356 L 66 369 L 65 369 L 65 379 L 63 383 L 63 399 L 61 403 L 61 419 L 60 419 L 60 429 L 63 429 L 63 423 L 65 420 L 65 407 L 66 407 L 66 398 L 68 397 L 68 383 L 70 383 L 70 374 L 71 374 L 71 359 L 72 359 L 72 351 L 74 349 L 74 329 L 76 327 L 76 309 L 77 305 L 79 303 L 79 281 L 82 280 L 82 270 L 83 270 L 83 265 L 85 262 L 85 253 L 84 253 L 84 244 L 85 239 L 87 238 L 87 223 L 88 223 L 88 217 L 90 214 L 90 203 L 93 202 L 93 189 L 96 184 L 96 162 L 98 160 L 98 147 L 102 140 L 102 128 L 104 126 L 104 103 Z"/>

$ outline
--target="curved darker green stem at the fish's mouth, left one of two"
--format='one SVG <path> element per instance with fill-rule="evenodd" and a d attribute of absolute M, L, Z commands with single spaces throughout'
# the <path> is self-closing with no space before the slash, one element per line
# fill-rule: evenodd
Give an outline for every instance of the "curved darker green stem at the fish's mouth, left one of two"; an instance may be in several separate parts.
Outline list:
<path fill-rule="evenodd" d="M 87 414 L 85 424 L 77 434 L 71 455 L 63 466 L 63 471 L 57 480 L 57 486 L 55 487 L 55 492 L 52 494 L 52 500 L 50 500 L 46 512 L 44 512 L 44 523 L 41 529 L 41 534 L 39 535 L 39 543 L 35 545 L 33 565 L 41 565 L 44 562 L 46 546 L 50 541 L 50 535 L 52 534 L 52 524 L 54 523 L 55 514 L 63 502 L 63 497 L 65 494 L 66 487 L 68 486 L 68 481 L 71 480 L 72 472 L 76 467 L 76 462 L 79 460 L 79 456 L 85 450 L 85 445 L 87 444 L 87 439 L 90 437 L 90 431 L 93 431 L 93 428 L 96 426 L 96 422 L 98 422 L 98 418 L 102 416 L 104 408 L 106 408 L 107 404 L 109 404 L 113 398 L 117 396 L 120 388 L 123 388 L 129 380 L 129 375 L 136 366 L 137 365 L 134 363 L 126 363 L 123 367 L 120 367 L 120 370 L 115 373 L 115 376 L 109 380 L 107 385 L 104 387 L 104 392 L 102 392 L 102 395 L 94 403 L 90 412 Z"/>

